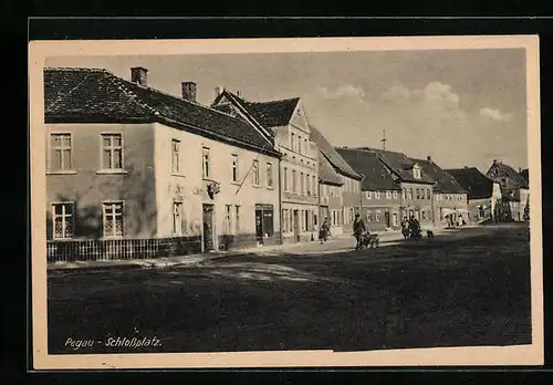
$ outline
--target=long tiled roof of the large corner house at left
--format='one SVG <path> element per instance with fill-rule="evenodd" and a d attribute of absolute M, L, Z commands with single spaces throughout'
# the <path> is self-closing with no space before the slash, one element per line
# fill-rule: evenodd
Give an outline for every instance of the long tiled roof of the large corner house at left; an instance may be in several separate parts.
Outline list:
<path fill-rule="evenodd" d="M 241 119 L 106 70 L 45 69 L 44 118 L 46 123 L 159 122 L 280 156 L 267 137 Z"/>

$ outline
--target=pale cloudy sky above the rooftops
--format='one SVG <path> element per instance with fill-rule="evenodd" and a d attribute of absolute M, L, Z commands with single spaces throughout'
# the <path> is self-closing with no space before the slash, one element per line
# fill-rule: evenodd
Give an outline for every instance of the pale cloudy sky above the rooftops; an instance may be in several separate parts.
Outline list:
<path fill-rule="evenodd" d="M 140 56 L 56 56 L 46 66 L 101 67 L 180 96 L 197 83 L 198 101 L 215 89 L 249 101 L 299 96 L 310 123 L 334 146 L 382 147 L 431 158 L 442 168 L 493 159 L 528 168 L 525 52 L 522 49 L 366 51 Z"/>

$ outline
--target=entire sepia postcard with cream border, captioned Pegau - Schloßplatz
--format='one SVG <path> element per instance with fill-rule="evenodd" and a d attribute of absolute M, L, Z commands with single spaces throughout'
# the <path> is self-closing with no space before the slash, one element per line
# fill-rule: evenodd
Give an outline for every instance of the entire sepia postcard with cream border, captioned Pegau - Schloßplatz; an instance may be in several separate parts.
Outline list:
<path fill-rule="evenodd" d="M 33 368 L 543 364 L 536 35 L 29 58 Z"/>

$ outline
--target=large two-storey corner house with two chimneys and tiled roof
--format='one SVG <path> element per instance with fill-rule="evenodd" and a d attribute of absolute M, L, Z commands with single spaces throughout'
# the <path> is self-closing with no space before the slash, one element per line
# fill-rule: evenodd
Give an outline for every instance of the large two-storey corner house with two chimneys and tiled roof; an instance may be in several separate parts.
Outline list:
<path fill-rule="evenodd" d="M 274 138 L 105 70 L 45 69 L 48 259 L 126 259 L 281 242 Z"/>

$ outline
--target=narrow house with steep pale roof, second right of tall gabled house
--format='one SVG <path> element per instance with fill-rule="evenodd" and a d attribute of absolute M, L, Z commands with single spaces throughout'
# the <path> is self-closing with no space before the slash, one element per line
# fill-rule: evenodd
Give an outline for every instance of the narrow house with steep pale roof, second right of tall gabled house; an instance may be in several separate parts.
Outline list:
<path fill-rule="evenodd" d="M 340 221 L 340 226 L 342 226 L 342 230 L 337 231 L 346 233 L 352 232 L 355 214 L 361 212 L 362 176 L 352 168 L 342 155 L 326 141 L 321 132 L 313 126 L 311 127 L 311 138 L 319 146 L 320 153 L 324 157 L 323 163 L 327 162 L 342 181 L 341 187 L 338 187 L 341 206 L 338 208 L 336 205 L 333 205 L 332 208 L 335 211 L 337 209 L 341 210 L 340 217 L 342 220 Z M 333 223 L 336 222 L 334 218 L 337 219 L 337 212 L 332 214 Z"/>

